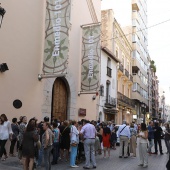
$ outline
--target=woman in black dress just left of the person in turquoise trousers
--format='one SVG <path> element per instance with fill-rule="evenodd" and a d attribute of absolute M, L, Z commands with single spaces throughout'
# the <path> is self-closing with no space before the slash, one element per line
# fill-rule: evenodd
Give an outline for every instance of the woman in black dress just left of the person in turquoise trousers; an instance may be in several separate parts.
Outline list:
<path fill-rule="evenodd" d="M 60 129 L 60 149 L 61 158 L 64 158 L 64 150 L 66 150 L 66 161 L 68 161 L 69 149 L 70 149 L 70 125 L 68 121 L 64 121 L 64 125 L 59 127 Z"/>

